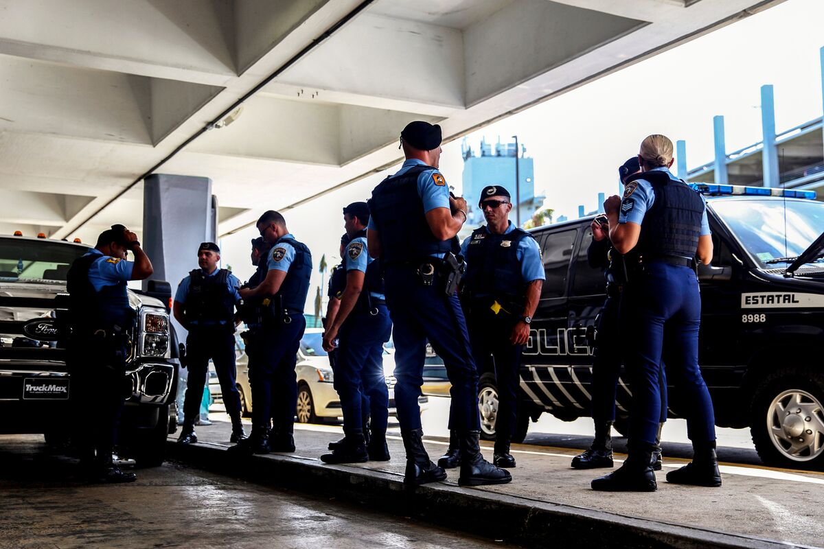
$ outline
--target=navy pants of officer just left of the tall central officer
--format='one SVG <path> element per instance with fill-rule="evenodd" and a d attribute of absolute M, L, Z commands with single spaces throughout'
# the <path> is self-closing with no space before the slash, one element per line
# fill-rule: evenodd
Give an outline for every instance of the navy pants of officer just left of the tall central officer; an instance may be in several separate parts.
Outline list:
<path fill-rule="evenodd" d="M 383 344 L 389 341 L 391 331 L 386 305 L 379 305 L 377 314 L 350 314 L 340 328 L 335 390 L 344 412 L 344 432 L 364 427 L 365 395 L 372 433 L 386 433 L 389 390 L 383 371 Z"/>

